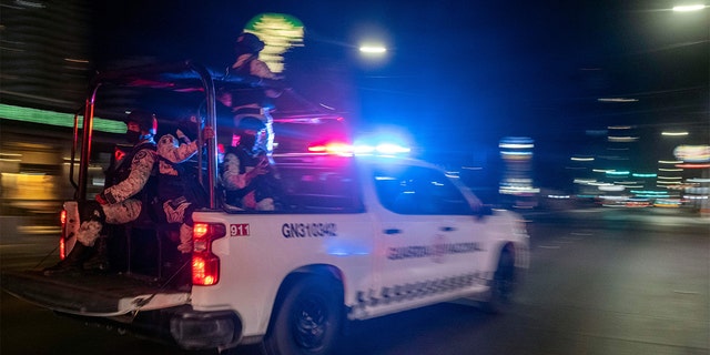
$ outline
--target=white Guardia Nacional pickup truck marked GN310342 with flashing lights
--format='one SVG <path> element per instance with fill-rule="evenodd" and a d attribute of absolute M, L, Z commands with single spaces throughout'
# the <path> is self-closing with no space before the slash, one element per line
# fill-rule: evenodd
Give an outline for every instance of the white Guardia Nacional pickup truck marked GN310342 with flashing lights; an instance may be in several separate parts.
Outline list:
<path fill-rule="evenodd" d="M 217 78 L 191 62 L 166 68 L 170 75 L 154 74 L 165 68 L 108 73 L 94 85 L 135 85 L 139 81 L 124 77 L 140 75 L 151 78 L 142 84 L 175 89 L 181 85 L 155 82 L 187 80 L 206 83 L 201 92 L 207 106 L 213 104 Z M 93 105 L 93 100 L 87 102 Z M 89 144 L 91 132 L 85 131 L 91 125 L 85 122 L 92 114 L 89 106 L 83 129 Z M 324 122 L 311 116 L 283 126 L 317 131 Z M 216 124 L 210 109 L 207 124 Z M 4 291 L 59 314 L 111 323 L 185 349 L 224 351 L 263 342 L 268 354 L 329 354 L 349 321 L 462 298 L 500 311 L 528 266 L 528 235 L 520 217 L 483 205 L 432 164 L 275 149 L 283 191 L 278 209 L 247 212 L 221 203 L 214 145 L 207 142 L 201 158 L 210 205 L 193 216 L 189 290 L 170 286 L 163 256 L 156 268 L 132 268 L 140 264 L 134 253 L 128 263 L 114 263 L 121 266 L 80 276 L 6 273 Z M 286 145 L 298 146 L 282 148 Z M 89 163 L 84 154 L 82 149 L 81 166 Z M 87 184 L 83 179 L 79 186 Z M 85 197 L 87 187 L 79 192 Z M 135 241 L 133 232 L 108 237 Z M 156 239 L 139 240 L 161 242 L 161 233 L 151 233 Z"/>

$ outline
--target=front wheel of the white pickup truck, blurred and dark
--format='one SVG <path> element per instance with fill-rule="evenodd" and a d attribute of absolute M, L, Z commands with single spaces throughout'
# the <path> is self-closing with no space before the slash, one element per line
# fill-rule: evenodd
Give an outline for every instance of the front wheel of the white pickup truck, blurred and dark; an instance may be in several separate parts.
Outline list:
<path fill-rule="evenodd" d="M 515 288 L 515 257 L 513 252 L 504 248 L 498 258 L 498 267 L 490 284 L 488 300 L 484 303 L 484 311 L 488 313 L 505 313 L 513 304 Z"/>

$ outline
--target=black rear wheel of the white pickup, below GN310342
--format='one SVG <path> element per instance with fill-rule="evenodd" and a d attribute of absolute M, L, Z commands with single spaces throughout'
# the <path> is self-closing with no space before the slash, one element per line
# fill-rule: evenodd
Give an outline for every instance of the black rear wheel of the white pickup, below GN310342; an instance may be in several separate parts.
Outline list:
<path fill-rule="evenodd" d="M 327 277 L 308 275 L 284 295 L 270 325 L 270 355 L 325 355 L 335 348 L 343 322 L 343 291 Z"/>

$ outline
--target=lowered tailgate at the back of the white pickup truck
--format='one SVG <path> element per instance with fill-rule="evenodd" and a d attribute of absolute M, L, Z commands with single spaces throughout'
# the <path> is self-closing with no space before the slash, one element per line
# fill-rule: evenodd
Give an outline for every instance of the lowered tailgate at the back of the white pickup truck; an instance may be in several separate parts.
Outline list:
<path fill-rule="evenodd" d="M 52 311 L 84 316 L 118 316 L 190 302 L 190 292 L 125 274 L 45 276 L 41 271 L 6 272 L 2 290 Z"/>

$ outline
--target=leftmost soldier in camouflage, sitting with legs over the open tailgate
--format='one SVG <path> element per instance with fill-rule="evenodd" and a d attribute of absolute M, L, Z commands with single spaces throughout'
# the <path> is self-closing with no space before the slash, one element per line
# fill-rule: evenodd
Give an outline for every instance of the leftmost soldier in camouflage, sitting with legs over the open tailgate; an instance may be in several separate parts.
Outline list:
<path fill-rule="evenodd" d="M 150 112 L 135 110 L 128 115 L 125 123 L 125 139 L 133 148 L 106 172 L 106 187 L 97 194 L 94 201 L 80 203 L 81 225 L 77 243 L 64 260 L 45 268 L 44 274 L 81 271 L 83 263 L 93 255 L 94 243 L 105 223 L 128 223 L 148 212 L 149 207 L 142 206 L 143 202 L 150 201 L 151 178 L 158 160 L 153 141 L 158 120 Z"/>

